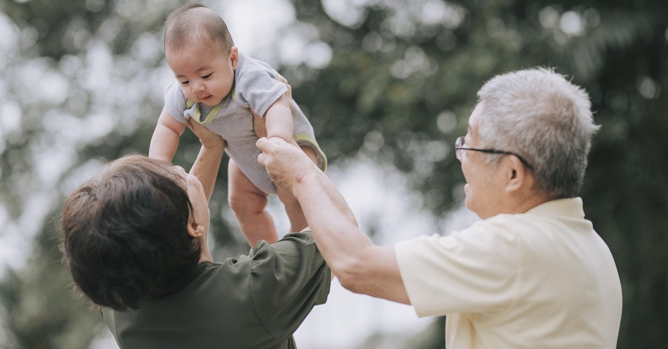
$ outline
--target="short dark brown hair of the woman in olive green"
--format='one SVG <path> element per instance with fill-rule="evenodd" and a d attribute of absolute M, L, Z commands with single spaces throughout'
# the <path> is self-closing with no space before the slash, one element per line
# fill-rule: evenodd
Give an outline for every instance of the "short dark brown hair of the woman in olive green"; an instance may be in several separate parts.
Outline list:
<path fill-rule="evenodd" d="M 113 161 L 63 205 L 61 250 L 74 282 L 117 310 L 182 289 L 200 259 L 187 232 L 192 211 L 172 165 L 138 155 Z"/>

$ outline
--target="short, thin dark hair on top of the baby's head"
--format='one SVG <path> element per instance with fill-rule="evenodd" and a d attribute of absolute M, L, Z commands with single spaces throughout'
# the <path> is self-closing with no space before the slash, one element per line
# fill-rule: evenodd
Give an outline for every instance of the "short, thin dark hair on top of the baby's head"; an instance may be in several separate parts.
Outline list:
<path fill-rule="evenodd" d="M 234 46 L 221 16 L 199 3 L 174 10 L 165 22 L 165 52 L 184 49 L 193 42 L 218 47 L 225 53 Z"/>

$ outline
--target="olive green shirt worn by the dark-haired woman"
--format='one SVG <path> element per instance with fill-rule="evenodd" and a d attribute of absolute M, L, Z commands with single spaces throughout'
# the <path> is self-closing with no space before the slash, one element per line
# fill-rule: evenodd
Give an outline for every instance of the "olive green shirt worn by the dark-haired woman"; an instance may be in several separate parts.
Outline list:
<path fill-rule="evenodd" d="M 200 263 L 190 284 L 139 309 L 102 314 L 121 348 L 296 348 L 292 334 L 326 302 L 330 282 L 310 232 L 292 233 Z"/>

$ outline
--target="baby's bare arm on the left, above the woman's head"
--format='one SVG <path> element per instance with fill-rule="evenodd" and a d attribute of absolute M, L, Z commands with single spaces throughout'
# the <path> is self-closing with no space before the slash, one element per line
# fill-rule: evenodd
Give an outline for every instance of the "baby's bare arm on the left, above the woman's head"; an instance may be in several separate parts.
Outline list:
<path fill-rule="evenodd" d="M 179 146 L 179 138 L 185 129 L 185 124 L 176 121 L 167 113 L 166 108 L 163 108 L 155 131 L 153 131 L 148 156 L 153 159 L 172 162 L 176 148 Z"/>

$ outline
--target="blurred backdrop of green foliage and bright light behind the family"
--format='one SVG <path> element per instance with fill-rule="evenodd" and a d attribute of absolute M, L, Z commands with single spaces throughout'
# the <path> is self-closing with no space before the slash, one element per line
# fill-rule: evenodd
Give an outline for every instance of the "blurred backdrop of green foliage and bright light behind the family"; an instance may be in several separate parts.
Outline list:
<path fill-rule="evenodd" d="M 64 197 L 147 154 L 173 79 L 162 24 L 179 0 L 1 0 L 0 348 L 116 348 L 58 251 Z M 453 143 L 495 74 L 554 67 L 602 125 L 582 188 L 617 261 L 619 348 L 668 347 L 668 1 L 202 1 L 239 50 L 276 67 L 328 154 L 328 175 L 377 243 L 447 234 L 462 208 Z M 199 145 L 186 134 L 175 163 Z M 248 252 L 221 170 L 214 259 Z M 271 212 L 287 229 L 278 200 Z M 443 348 L 443 318 L 333 285 L 300 348 Z"/>

